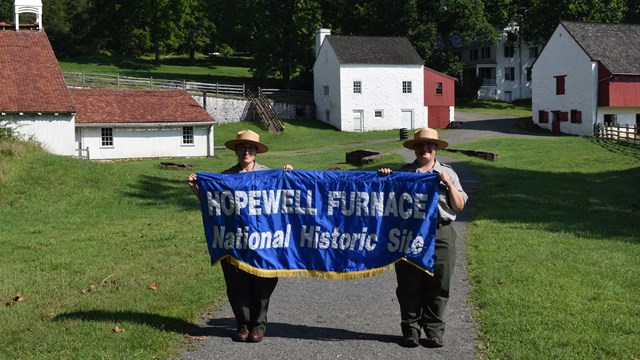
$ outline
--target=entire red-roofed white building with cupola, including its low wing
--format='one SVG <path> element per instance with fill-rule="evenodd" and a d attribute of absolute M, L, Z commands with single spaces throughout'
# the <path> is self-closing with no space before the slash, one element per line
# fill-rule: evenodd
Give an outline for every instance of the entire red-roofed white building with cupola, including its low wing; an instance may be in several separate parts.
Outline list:
<path fill-rule="evenodd" d="M 18 24 L 20 13 L 36 24 Z M 67 88 L 42 30 L 42 3 L 16 0 L 0 30 L 0 125 L 47 151 L 91 159 L 213 155 L 213 119 L 184 90 Z"/>

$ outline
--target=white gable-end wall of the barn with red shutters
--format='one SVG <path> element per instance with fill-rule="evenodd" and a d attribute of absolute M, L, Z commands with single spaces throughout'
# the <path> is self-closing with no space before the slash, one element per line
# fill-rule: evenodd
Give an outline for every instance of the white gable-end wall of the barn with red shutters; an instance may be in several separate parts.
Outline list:
<path fill-rule="evenodd" d="M 566 75 L 564 95 L 556 95 L 554 76 L 558 75 Z M 598 101 L 597 63 L 591 61 L 563 26 L 556 28 L 538 56 L 532 80 L 531 110 L 534 123 L 539 124 L 540 110 L 570 112 L 575 109 L 582 112 L 582 123 L 561 122 L 560 131 L 574 135 L 593 134 Z M 550 113 L 549 122 L 539 125 L 551 129 L 552 121 Z"/>

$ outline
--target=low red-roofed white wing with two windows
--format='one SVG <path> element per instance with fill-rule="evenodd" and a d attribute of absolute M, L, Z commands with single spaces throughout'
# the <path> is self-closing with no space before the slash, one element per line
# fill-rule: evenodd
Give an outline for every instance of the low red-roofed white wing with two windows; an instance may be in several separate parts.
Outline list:
<path fill-rule="evenodd" d="M 184 90 L 71 89 L 89 159 L 213 155 L 213 120 Z"/>

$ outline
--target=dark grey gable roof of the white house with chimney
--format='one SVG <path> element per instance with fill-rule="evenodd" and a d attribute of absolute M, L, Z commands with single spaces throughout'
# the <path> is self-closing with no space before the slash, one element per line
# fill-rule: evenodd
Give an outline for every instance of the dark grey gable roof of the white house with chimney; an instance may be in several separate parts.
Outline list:
<path fill-rule="evenodd" d="M 405 37 L 335 36 L 328 41 L 341 64 L 424 65 Z"/>

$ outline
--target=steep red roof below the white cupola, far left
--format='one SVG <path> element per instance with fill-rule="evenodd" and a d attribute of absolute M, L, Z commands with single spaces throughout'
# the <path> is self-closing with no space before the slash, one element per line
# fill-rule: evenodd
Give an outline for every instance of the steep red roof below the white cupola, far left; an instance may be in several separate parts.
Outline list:
<path fill-rule="evenodd" d="M 1 112 L 75 112 L 44 31 L 2 30 L 0 50 Z"/>

